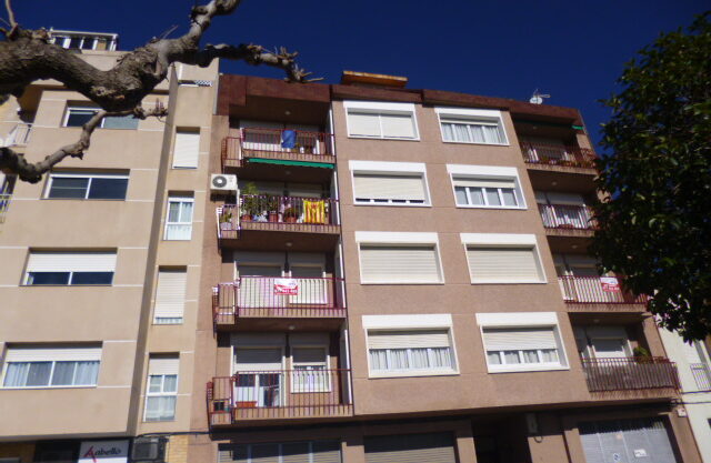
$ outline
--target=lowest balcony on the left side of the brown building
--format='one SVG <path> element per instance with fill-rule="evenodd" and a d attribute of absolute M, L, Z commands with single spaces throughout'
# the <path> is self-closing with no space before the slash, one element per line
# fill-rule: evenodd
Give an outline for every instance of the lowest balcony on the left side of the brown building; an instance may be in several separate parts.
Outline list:
<path fill-rule="evenodd" d="M 208 383 L 211 426 L 352 416 L 350 370 L 243 371 Z"/>

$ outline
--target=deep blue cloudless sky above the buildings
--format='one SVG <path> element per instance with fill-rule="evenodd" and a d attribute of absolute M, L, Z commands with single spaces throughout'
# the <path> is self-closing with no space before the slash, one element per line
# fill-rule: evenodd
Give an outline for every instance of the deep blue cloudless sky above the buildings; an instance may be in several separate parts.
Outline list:
<path fill-rule="evenodd" d="M 117 32 L 121 49 L 184 31 L 190 0 L 16 0 L 28 28 Z M 661 31 L 689 24 L 701 0 L 378 2 L 244 0 L 213 21 L 206 42 L 287 46 L 303 67 L 338 82 L 343 69 L 407 76 L 429 88 L 579 108 L 594 141 L 623 64 Z M 228 63 L 223 72 L 281 78 Z"/>

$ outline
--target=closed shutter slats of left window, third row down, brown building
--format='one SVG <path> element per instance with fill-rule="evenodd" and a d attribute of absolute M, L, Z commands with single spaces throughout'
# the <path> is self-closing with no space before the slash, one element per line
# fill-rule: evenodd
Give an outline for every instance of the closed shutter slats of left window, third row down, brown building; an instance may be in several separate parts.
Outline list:
<path fill-rule="evenodd" d="M 439 283 L 434 246 L 360 246 L 363 282 Z"/>

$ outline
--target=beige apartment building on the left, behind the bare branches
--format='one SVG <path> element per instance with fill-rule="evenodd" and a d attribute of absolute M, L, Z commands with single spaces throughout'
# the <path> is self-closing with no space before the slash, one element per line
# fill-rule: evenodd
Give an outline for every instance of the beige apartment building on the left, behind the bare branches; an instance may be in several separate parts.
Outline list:
<path fill-rule="evenodd" d="M 116 34 L 51 34 L 100 69 L 121 57 Z M 189 427 L 217 78 L 178 67 L 143 101 L 164 120 L 106 118 L 83 160 L 0 177 L 3 463 L 184 461 L 184 437 L 133 437 Z M 98 109 L 41 81 L 3 110 L 3 144 L 39 160 Z"/>

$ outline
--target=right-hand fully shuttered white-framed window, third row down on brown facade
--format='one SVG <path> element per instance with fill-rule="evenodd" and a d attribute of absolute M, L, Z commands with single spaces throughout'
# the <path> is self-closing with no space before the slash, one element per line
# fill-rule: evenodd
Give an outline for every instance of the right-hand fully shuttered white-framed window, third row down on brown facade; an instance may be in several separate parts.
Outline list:
<path fill-rule="evenodd" d="M 544 283 L 532 234 L 462 233 L 472 283 Z"/>

